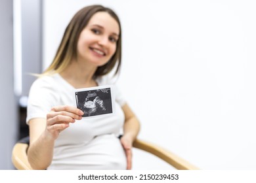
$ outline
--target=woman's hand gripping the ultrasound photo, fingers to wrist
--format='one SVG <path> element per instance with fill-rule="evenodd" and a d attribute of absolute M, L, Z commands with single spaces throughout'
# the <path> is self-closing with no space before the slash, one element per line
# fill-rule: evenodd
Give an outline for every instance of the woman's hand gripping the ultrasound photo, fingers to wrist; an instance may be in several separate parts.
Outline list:
<path fill-rule="evenodd" d="M 53 107 L 47 114 L 45 132 L 47 136 L 49 135 L 51 138 L 57 139 L 61 131 L 69 127 L 70 123 L 74 123 L 75 120 L 81 120 L 82 116 L 83 111 L 76 107 L 68 105 Z"/>

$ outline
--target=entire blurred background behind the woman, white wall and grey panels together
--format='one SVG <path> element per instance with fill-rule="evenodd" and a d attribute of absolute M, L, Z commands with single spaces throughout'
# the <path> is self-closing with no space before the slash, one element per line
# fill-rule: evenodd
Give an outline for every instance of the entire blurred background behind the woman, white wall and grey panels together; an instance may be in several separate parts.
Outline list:
<path fill-rule="evenodd" d="M 118 84 L 140 119 L 139 138 L 200 169 L 256 169 L 256 3 L 1 0 L 0 169 L 28 135 L 26 100 L 64 29 L 86 5 L 116 10 L 123 31 Z M 134 169 L 169 169 L 134 150 Z"/>

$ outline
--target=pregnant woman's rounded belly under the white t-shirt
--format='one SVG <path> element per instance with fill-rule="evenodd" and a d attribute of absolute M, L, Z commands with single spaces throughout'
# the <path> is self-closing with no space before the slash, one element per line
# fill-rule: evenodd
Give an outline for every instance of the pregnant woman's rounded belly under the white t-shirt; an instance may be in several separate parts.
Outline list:
<path fill-rule="evenodd" d="M 126 157 L 115 135 L 100 135 L 88 144 L 58 151 L 48 169 L 126 169 Z"/>

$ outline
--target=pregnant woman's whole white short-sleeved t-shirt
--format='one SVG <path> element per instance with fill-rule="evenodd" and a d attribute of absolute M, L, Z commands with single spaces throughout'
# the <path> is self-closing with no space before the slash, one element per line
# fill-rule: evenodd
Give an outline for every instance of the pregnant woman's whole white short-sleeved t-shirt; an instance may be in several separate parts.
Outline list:
<path fill-rule="evenodd" d="M 110 84 L 107 79 L 96 80 L 99 86 Z M 75 88 L 59 74 L 42 76 L 33 82 L 28 99 L 26 122 L 32 118 L 46 118 L 52 107 L 75 106 Z M 54 155 L 47 169 L 125 169 L 126 157 L 117 138 L 125 116 L 121 106 L 123 96 L 114 86 L 115 115 L 83 118 L 60 133 L 54 143 Z"/>

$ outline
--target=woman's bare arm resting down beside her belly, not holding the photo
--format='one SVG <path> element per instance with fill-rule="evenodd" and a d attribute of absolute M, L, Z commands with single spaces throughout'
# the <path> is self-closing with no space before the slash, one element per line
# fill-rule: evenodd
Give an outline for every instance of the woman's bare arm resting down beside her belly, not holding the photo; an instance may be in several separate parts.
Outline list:
<path fill-rule="evenodd" d="M 125 124 L 123 126 L 123 137 L 121 137 L 121 144 L 125 149 L 127 157 L 127 169 L 131 169 L 131 148 L 133 147 L 133 141 L 135 141 L 140 130 L 140 123 L 129 105 L 125 104 L 122 107 L 125 113 Z"/>

